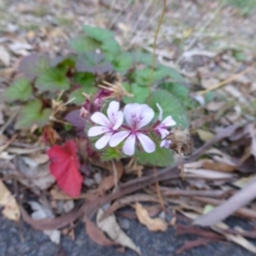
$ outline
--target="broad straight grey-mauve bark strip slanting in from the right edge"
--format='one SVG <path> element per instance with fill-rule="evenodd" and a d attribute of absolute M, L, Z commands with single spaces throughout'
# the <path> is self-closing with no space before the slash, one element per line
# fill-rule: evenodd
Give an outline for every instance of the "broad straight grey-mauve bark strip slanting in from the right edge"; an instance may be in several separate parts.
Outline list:
<path fill-rule="evenodd" d="M 194 224 L 208 227 L 217 224 L 224 218 L 229 217 L 232 213 L 239 210 L 248 202 L 253 201 L 256 197 L 256 177 L 247 184 L 246 187 L 239 190 L 235 195 L 231 196 L 229 200 L 225 201 L 220 206 L 208 212 L 206 215 L 195 219 Z"/>

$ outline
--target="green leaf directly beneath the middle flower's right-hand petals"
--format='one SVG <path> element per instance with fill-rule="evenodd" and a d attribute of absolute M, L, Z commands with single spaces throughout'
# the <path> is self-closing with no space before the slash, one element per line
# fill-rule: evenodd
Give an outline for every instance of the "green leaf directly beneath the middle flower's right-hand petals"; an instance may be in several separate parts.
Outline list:
<path fill-rule="evenodd" d="M 153 153 L 137 152 L 135 156 L 137 156 L 137 161 L 141 165 L 165 167 L 174 164 L 172 150 L 169 148 L 160 148 L 159 145 L 156 145 Z"/>

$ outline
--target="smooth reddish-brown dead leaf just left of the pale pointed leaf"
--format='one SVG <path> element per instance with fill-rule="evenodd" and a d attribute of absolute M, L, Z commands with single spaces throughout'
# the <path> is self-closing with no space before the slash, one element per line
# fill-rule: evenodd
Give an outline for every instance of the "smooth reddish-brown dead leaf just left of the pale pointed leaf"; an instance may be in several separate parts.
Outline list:
<path fill-rule="evenodd" d="M 90 239 L 103 247 L 109 247 L 114 244 L 113 241 L 108 239 L 102 230 L 94 224 L 90 218 L 85 218 L 86 233 Z"/>

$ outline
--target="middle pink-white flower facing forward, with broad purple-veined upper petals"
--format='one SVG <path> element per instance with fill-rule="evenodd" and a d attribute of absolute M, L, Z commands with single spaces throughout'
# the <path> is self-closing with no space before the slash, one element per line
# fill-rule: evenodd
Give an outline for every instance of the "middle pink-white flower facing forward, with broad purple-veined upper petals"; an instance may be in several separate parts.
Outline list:
<path fill-rule="evenodd" d="M 115 147 L 125 140 L 123 152 L 132 155 L 135 145 L 139 141 L 147 153 L 155 150 L 154 142 L 145 135 L 147 131 L 142 128 L 148 125 L 154 118 L 154 111 L 147 104 L 130 103 L 124 108 L 125 121 L 128 126 L 123 125 L 125 131 L 118 131 L 109 140 L 110 147 Z"/>

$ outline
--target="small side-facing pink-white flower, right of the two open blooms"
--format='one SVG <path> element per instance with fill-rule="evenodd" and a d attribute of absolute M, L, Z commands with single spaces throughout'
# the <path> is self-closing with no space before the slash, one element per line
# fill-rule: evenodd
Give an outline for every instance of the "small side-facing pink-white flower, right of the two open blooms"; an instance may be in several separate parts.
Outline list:
<path fill-rule="evenodd" d="M 176 122 L 172 119 L 171 115 L 167 116 L 162 122 L 160 122 L 163 116 L 163 110 L 158 103 L 156 103 L 156 106 L 160 111 L 160 115 L 154 124 L 153 131 L 160 135 L 161 139 L 164 139 L 170 133 L 170 131 L 167 130 L 167 127 L 176 125 Z"/>

